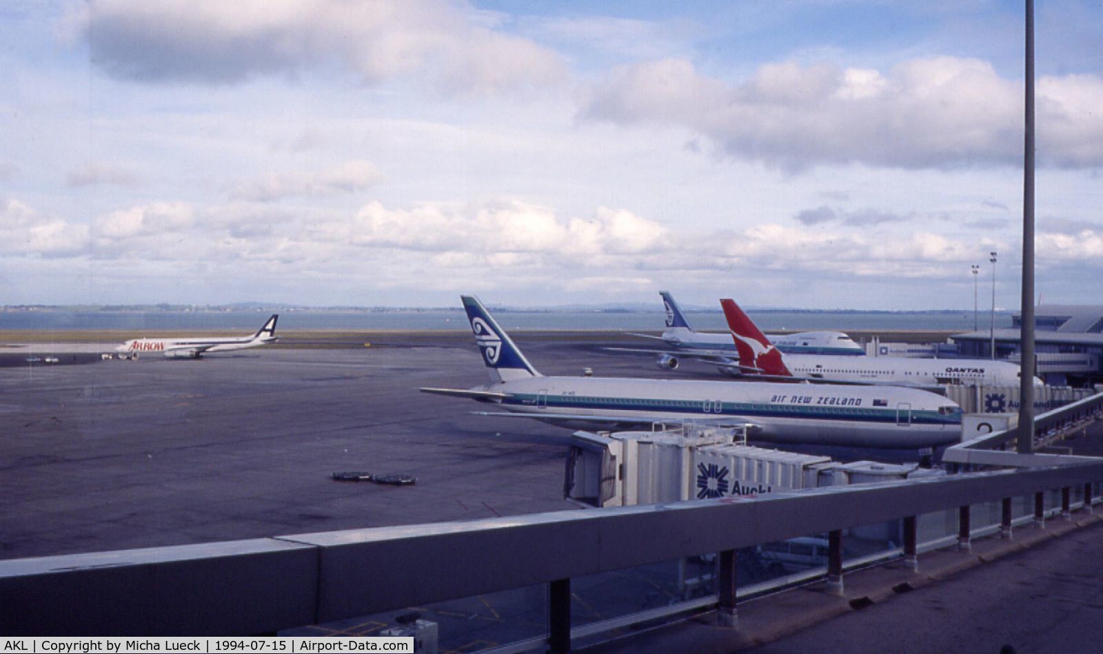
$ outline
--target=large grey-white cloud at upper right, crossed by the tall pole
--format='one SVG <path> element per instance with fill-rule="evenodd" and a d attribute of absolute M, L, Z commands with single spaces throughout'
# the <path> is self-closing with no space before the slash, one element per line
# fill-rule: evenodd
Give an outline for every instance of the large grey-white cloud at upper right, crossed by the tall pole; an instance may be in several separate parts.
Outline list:
<path fill-rule="evenodd" d="M 1041 77 L 1037 94 L 1039 162 L 1103 165 L 1103 79 Z M 918 58 L 886 72 L 769 64 L 736 85 L 668 58 L 617 68 L 588 90 L 580 116 L 687 127 L 730 157 L 791 171 L 947 169 L 1019 165 L 1021 104 L 1020 82 L 973 58 Z"/>

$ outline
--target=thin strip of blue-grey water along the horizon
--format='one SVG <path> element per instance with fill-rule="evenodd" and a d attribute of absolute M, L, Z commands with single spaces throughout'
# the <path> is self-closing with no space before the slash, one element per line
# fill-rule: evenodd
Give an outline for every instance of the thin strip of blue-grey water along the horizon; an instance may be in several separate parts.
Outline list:
<path fill-rule="evenodd" d="M 662 331 L 662 311 L 508 311 L 494 310 L 507 330 Z M 271 311 L 77 311 L 68 309 L 8 309 L 0 311 L 0 330 L 43 331 L 228 331 L 260 329 Z M 468 328 L 463 310 L 285 310 L 278 330 L 457 330 Z M 973 331 L 972 311 L 748 311 L 760 328 L 769 330 L 954 330 Z M 689 311 L 694 329 L 727 331 L 719 311 Z M 979 329 L 989 313 L 977 317 Z M 996 313 L 996 328 L 1011 326 L 1009 313 Z"/>

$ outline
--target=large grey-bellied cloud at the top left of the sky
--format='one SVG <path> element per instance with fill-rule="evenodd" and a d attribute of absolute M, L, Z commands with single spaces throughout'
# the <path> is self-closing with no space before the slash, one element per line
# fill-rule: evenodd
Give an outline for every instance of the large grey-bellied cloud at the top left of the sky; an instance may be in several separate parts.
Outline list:
<path fill-rule="evenodd" d="M 558 84 L 554 52 L 488 26 L 447 0 L 99 0 L 68 20 L 93 63 L 139 82 L 232 84 L 351 71 L 365 84 L 428 74 L 452 92 Z"/>

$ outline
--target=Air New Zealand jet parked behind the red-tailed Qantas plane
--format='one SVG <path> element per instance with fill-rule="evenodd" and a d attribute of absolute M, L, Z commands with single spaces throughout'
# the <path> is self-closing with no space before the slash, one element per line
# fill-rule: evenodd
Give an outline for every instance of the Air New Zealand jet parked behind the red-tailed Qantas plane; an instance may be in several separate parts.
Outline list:
<path fill-rule="evenodd" d="M 643 350 L 636 347 L 607 347 L 614 352 L 654 354 L 655 365 L 663 369 L 675 369 L 682 358 L 694 358 L 705 363 L 729 365 L 738 358 L 738 352 L 730 334 L 698 332 L 689 326 L 682 308 L 670 291 L 660 291 L 666 309 L 666 330 L 661 336 L 634 334 L 663 341 L 671 350 Z M 826 354 L 831 356 L 864 356 L 866 351 L 843 332 L 800 332 L 795 334 L 768 335 L 769 342 L 778 350 L 794 354 Z M 721 372 L 729 369 L 720 368 Z"/>

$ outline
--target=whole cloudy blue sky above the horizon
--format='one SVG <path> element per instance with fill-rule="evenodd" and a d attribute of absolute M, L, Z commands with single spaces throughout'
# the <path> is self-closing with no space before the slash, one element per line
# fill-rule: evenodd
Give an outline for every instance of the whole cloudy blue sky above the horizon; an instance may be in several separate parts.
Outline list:
<path fill-rule="evenodd" d="M 1035 15 L 1037 291 L 1103 304 L 1103 6 Z M 1018 309 L 1022 34 L 984 0 L 0 3 L 0 304 L 972 309 L 995 274 Z"/>

